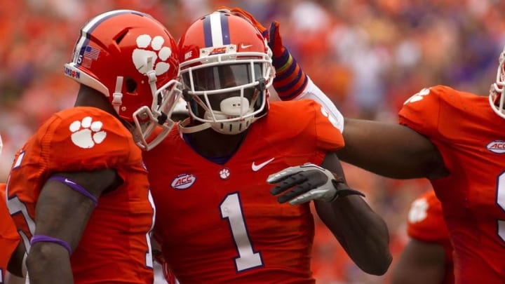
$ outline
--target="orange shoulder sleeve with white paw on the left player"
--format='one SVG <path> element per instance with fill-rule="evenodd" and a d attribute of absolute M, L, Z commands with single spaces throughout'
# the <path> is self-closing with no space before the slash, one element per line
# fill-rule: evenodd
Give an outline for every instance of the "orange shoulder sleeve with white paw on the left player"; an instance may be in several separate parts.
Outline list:
<path fill-rule="evenodd" d="M 126 163 L 136 147 L 130 132 L 114 116 L 93 108 L 62 112 L 40 138 L 41 156 L 54 171 L 114 168 Z"/>

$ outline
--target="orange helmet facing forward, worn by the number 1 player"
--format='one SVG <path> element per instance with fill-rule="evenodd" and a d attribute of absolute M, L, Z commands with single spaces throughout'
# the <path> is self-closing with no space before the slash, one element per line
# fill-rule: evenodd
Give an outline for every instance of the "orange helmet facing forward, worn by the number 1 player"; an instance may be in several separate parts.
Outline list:
<path fill-rule="evenodd" d="M 247 129 L 268 108 L 275 76 L 267 41 L 248 20 L 228 11 L 205 15 L 179 43 L 183 96 L 192 121 L 183 133 L 213 128 L 223 134 Z"/>

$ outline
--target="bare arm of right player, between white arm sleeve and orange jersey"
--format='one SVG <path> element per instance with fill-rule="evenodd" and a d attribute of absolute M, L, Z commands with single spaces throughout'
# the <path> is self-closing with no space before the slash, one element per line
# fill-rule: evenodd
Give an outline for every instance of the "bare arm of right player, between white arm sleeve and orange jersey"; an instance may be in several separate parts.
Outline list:
<path fill-rule="evenodd" d="M 345 119 L 342 161 L 399 179 L 440 177 L 443 160 L 436 147 L 414 130 L 395 123 Z"/>

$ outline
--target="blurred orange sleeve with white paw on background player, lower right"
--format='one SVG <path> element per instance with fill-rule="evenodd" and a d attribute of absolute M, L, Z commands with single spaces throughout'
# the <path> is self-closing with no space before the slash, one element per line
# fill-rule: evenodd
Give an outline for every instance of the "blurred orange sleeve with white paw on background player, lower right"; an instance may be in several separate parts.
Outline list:
<path fill-rule="evenodd" d="M 448 242 L 449 232 L 443 219 L 442 205 L 433 191 L 412 202 L 408 213 L 408 236 L 419 241 Z"/>

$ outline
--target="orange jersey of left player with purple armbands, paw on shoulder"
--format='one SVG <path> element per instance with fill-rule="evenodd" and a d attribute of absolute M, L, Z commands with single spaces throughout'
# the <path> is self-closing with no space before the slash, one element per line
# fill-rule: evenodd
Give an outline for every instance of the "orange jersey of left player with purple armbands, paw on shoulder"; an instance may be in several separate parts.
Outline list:
<path fill-rule="evenodd" d="M 98 199 L 70 258 L 74 281 L 152 283 L 149 231 L 154 205 L 147 172 L 132 135 L 111 114 L 76 107 L 51 116 L 15 155 L 8 209 L 23 239 L 29 240 L 37 198 L 51 173 L 104 168 L 116 170 L 124 182 Z"/>

